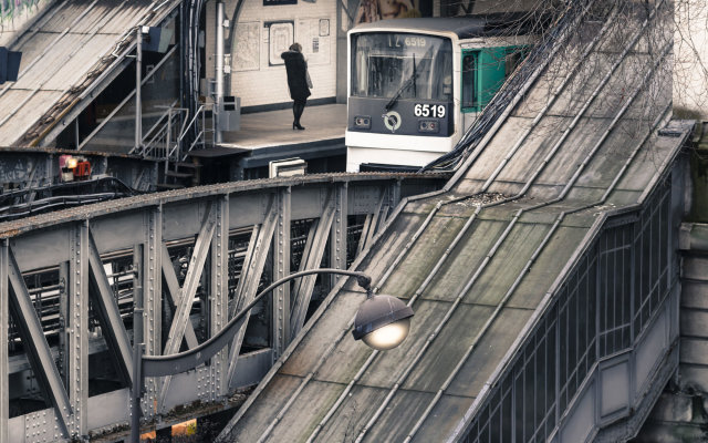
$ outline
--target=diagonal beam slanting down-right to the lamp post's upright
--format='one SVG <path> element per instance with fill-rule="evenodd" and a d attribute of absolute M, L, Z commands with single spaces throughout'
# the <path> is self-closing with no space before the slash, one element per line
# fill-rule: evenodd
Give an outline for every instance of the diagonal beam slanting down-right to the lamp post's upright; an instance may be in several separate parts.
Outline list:
<path fill-rule="evenodd" d="M 115 293 L 113 293 L 111 284 L 108 284 L 108 277 L 103 268 L 101 255 L 91 233 L 88 233 L 88 284 L 91 285 L 90 296 L 93 296 L 93 306 L 108 346 L 108 351 L 115 360 L 116 371 L 123 381 L 131 385 L 133 382 L 133 348 L 131 347 L 131 339 L 123 324 Z"/>

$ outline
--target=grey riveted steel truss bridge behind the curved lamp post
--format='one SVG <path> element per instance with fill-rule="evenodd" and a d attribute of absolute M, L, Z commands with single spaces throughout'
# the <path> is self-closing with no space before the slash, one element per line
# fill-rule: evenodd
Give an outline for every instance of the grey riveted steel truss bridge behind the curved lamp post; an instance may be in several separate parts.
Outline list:
<path fill-rule="evenodd" d="M 148 354 L 191 348 L 263 284 L 320 265 L 346 268 L 402 197 L 445 178 L 242 182 L 0 225 L 0 441 L 125 427 L 136 339 Z M 148 380 L 146 419 L 194 402 L 209 412 L 228 406 L 237 388 L 263 377 L 333 282 L 312 276 L 281 287 L 209 365 Z"/>

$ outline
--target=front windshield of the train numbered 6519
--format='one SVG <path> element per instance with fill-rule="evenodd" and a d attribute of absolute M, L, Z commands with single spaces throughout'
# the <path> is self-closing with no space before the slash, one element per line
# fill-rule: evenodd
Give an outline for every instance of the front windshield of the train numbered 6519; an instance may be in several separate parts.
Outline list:
<path fill-rule="evenodd" d="M 353 96 L 451 100 L 450 39 L 393 32 L 352 39 Z"/>

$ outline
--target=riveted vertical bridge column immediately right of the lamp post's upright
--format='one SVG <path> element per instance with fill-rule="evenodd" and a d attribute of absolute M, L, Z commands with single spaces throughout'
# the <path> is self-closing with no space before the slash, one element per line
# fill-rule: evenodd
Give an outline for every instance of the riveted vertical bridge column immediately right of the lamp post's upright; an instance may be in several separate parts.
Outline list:
<path fill-rule="evenodd" d="M 145 241 L 143 244 L 143 341 L 145 354 L 163 353 L 163 271 L 160 264 L 163 247 L 163 208 L 157 206 L 145 213 Z M 155 414 L 159 383 L 155 379 L 145 380 L 143 411 L 146 418 Z"/>

